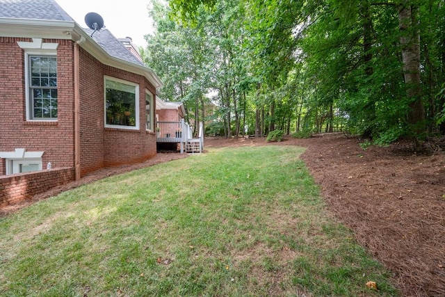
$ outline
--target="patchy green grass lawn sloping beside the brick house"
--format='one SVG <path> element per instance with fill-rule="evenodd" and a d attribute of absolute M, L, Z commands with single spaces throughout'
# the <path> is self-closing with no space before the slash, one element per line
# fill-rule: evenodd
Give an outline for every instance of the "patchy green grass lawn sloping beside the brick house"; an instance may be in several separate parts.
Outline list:
<path fill-rule="evenodd" d="M 0 296 L 396 296 L 302 152 L 212 149 L 0 218 Z"/>

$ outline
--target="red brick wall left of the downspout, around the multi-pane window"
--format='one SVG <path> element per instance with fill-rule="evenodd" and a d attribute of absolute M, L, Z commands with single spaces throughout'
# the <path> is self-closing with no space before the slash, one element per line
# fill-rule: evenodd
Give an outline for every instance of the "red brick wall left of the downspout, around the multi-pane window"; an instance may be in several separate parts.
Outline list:
<path fill-rule="evenodd" d="M 53 168 L 74 166 L 72 72 L 72 42 L 70 40 L 43 40 L 58 42 L 58 121 L 26 122 L 24 90 L 24 51 L 17 41 L 29 38 L 0 37 L 0 152 L 15 148 L 43 151 L 43 166 L 51 162 Z M 0 165 L 4 163 L 2 161 Z M 0 175 L 6 174 L 4 164 Z"/>

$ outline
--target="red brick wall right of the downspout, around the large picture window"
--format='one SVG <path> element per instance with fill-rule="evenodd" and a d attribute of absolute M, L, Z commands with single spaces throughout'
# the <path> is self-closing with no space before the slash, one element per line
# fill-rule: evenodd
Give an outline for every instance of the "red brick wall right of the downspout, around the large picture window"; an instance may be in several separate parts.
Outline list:
<path fill-rule="evenodd" d="M 145 161 L 156 155 L 156 136 L 145 131 L 145 88 L 155 88 L 145 77 L 102 65 L 80 50 L 81 176 L 94 170 Z M 139 84 L 137 131 L 104 128 L 104 75 Z"/>

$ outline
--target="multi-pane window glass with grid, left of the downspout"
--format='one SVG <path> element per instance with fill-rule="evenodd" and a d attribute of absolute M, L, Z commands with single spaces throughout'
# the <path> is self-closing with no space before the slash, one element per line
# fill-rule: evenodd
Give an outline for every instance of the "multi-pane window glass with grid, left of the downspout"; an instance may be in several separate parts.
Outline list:
<path fill-rule="evenodd" d="M 57 119 L 57 58 L 28 56 L 30 120 Z"/>

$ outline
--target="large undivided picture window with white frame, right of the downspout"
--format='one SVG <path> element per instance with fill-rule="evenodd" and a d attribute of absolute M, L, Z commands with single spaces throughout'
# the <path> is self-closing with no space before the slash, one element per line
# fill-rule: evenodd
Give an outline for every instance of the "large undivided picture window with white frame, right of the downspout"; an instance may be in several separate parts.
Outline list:
<path fill-rule="evenodd" d="M 105 77 L 105 127 L 139 129 L 139 86 Z"/>

